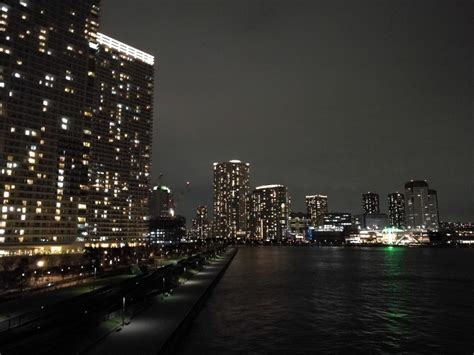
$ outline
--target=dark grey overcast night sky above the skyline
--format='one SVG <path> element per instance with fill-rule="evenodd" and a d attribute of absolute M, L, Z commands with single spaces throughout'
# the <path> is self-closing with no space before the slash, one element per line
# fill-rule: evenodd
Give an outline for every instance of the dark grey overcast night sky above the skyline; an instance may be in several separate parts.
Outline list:
<path fill-rule="evenodd" d="M 286 184 L 293 210 L 410 179 L 474 220 L 473 2 L 102 0 L 101 31 L 157 57 L 153 179 L 212 210 L 212 163 Z"/>

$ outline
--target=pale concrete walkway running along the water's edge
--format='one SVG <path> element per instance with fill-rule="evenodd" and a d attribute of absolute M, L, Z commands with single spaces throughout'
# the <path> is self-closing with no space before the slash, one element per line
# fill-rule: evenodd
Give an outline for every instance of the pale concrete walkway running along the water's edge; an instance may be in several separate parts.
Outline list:
<path fill-rule="evenodd" d="M 171 296 L 164 299 L 155 297 L 149 308 L 132 318 L 130 324 L 120 331 L 96 344 L 88 354 L 157 354 L 228 265 L 235 252 L 235 249 L 229 249 L 191 280 L 176 288 Z"/>

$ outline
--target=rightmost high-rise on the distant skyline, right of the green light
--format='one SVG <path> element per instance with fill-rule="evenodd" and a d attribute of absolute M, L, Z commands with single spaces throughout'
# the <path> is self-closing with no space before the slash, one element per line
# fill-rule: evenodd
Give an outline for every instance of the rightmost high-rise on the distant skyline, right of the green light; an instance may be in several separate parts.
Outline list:
<path fill-rule="evenodd" d="M 437 230 L 439 225 L 438 195 L 423 180 L 405 184 L 407 227 L 410 229 Z"/>

